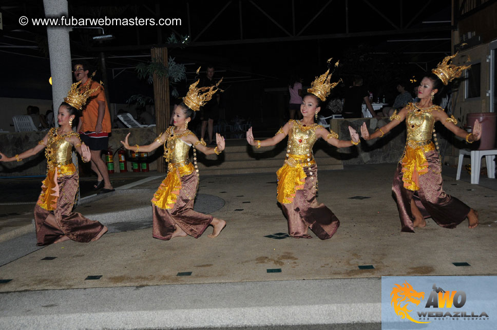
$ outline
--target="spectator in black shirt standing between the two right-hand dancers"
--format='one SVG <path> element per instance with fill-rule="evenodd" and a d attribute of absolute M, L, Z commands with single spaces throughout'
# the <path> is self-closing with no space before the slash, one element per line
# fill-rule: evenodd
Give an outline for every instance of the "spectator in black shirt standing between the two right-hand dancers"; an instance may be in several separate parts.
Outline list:
<path fill-rule="evenodd" d="M 369 101 L 368 89 L 362 86 L 362 78 L 356 76 L 353 86 L 345 92 L 345 103 L 343 104 L 343 118 L 362 118 L 362 102 L 366 103 L 366 107 L 374 118 L 380 118 Z"/>

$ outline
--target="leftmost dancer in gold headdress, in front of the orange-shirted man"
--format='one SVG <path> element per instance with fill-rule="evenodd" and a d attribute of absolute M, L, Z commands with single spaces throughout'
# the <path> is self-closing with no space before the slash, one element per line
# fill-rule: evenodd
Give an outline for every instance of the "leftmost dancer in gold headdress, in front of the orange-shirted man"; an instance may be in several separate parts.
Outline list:
<path fill-rule="evenodd" d="M 107 227 L 100 222 L 72 211 L 79 186 L 79 174 L 72 163 L 72 147 L 78 151 L 83 162 L 89 162 L 91 157 L 90 149 L 81 143 L 78 133 L 72 131 L 72 121 L 80 117 L 86 99 L 95 91 L 86 88 L 81 94 L 78 85 L 72 85 L 65 102 L 59 107 L 59 128 L 51 128 L 37 146 L 14 157 L 0 153 L 1 162 L 20 162 L 45 149 L 47 177 L 42 182 L 42 192 L 34 207 L 36 245 L 67 240 L 86 243 L 98 240 L 107 231 Z"/>

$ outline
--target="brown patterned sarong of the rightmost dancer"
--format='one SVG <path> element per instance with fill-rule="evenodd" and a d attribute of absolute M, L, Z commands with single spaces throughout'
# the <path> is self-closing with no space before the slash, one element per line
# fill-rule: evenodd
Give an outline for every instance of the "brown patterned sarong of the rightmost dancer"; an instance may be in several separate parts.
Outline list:
<path fill-rule="evenodd" d="M 469 206 L 455 197 L 447 195 L 443 189 L 442 164 L 435 150 L 425 153 L 428 171 L 419 176 L 419 190 L 412 191 L 404 187 L 402 164 L 398 164 L 393 178 L 392 191 L 397 199 L 397 208 L 402 231 L 414 232 L 411 212 L 411 199 L 415 193 L 419 197 L 416 206 L 420 211 L 429 213 L 431 218 L 441 227 L 455 228 L 470 211 Z"/>

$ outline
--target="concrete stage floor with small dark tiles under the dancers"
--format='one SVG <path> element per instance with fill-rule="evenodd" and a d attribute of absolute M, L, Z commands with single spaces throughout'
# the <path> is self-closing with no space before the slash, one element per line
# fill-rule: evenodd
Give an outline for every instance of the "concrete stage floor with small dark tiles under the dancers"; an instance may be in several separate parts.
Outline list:
<path fill-rule="evenodd" d="M 480 225 L 427 219 L 409 234 L 391 194 L 395 167 L 319 171 L 318 200 L 340 220 L 326 241 L 286 237 L 274 173 L 200 173 L 196 209 L 227 222 L 215 239 L 212 227 L 152 239 L 157 172 L 78 205 L 111 229 L 87 244 L 35 247 L 34 192 L 32 204 L 0 205 L 0 328 L 371 329 L 381 327 L 381 276 L 497 274 L 496 180 L 471 185 L 444 167 L 446 192 L 478 210 Z"/>

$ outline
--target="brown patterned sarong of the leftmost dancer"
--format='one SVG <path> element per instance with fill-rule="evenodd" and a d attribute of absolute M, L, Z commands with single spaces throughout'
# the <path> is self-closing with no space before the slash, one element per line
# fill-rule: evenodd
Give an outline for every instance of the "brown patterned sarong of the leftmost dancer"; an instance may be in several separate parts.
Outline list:
<path fill-rule="evenodd" d="M 52 175 L 51 171 L 49 172 Z M 74 201 L 78 193 L 79 174 L 78 171 L 72 173 L 60 172 L 56 178 L 56 185 L 58 186 L 59 196 L 56 199 L 56 204 L 51 204 L 49 207 L 44 205 L 41 201 L 43 196 L 50 191 L 47 182 L 52 178 L 45 179 L 42 193 L 40 194 L 39 202 L 34 207 L 34 221 L 36 228 L 36 245 L 52 244 L 55 240 L 62 236 L 67 236 L 76 242 L 90 242 L 104 226 L 98 221 L 89 220 L 81 215 L 81 213 L 73 212 Z M 41 205 L 42 204 L 42 205 Z M 55 222 L 59 228 L 53 228 L 46 223 L 46 219 L 50 214 L 50 210 L 43 208 L 52 208 Z"/>

